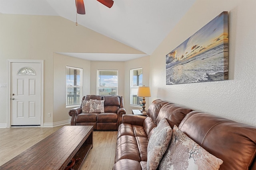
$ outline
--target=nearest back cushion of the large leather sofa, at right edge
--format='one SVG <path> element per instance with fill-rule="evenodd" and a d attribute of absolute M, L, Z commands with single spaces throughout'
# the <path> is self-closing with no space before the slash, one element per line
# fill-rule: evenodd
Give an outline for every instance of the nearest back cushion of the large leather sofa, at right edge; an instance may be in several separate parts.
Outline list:
<path fill-rule="evenodd" d="M 256 127 L 192 111 L 184 117 L 179 129 L 223 160 L 220 170 L 253 169 L 250 166 L 256 154 Z"/>

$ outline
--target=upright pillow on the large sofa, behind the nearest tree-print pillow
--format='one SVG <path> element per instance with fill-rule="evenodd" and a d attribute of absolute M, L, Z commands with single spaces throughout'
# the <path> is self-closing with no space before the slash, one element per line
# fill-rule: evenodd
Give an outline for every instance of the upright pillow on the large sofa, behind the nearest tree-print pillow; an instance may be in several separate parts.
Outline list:
<path fill-rule="evenodd" d="M 147 170 L 156 170 L 172 137 L 172 128 L 162 119 L 148 141 Z"/>

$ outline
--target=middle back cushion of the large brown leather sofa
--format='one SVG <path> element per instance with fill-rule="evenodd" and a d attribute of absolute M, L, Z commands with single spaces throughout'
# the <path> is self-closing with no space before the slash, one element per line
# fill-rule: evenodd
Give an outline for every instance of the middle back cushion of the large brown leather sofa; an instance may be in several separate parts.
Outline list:
<path fill-rule="evenodd" d="M 174 125 L 179 126 L 182 119 L 191 111 L 193 110 L 176 104 L 165 104 L 158 113 L 156 124 L 166 118 L 172 128 Z"/>

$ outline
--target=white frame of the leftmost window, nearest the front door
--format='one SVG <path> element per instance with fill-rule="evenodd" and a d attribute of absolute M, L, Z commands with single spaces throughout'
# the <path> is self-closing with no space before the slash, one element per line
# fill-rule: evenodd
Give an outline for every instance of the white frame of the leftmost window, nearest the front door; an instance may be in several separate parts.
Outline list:
<path fill-rule="evenodd" d="M 79 67 L 74 67 L 74 66 L 66 66 L 66 70 L 67 68 L 72 68 L 72 69 L 76 69 L 76 70 L 80 70 L 80 86 L 67 86 L 66 83 L 66 108 L 69 107 L 80 107 L 81 104 L 81 100 L 82 100 L 82 94 L 83 94 L 83 68 L 79 68 Z M 65 76 L 67 76 L 67 74 L 65 74 Z M 66 77 L 66 82 L 67 82 L 67 77 Z M 68 88 L 80 88 L 80 97 L 79 100 L 77 101 L 77 104 L 68 104 Z"/>

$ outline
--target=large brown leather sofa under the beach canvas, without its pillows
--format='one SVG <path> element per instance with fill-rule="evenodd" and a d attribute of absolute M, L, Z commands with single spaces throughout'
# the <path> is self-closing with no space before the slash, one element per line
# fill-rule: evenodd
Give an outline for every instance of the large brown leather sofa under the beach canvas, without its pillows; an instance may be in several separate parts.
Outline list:
<path fill-rule="evenodd" d="M 148 108 L 148 117 L 123 115 L 113 170 L 146 170 L 148 140 L 163 118 L 223 160 L 220 170 L 256 170 L 256 127 L 159 99 Z"/>

